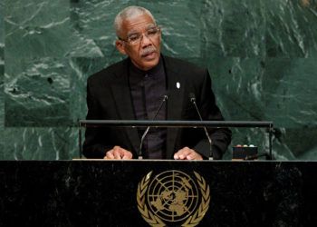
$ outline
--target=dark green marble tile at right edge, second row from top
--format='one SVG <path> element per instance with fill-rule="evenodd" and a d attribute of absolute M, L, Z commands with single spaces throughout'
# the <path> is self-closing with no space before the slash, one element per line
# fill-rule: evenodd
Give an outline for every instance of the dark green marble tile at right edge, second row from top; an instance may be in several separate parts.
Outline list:
<path fill-rule="evenodd" d="M 317 58 L 269 58 L 264 72 L 265 115 L 289 128 L 317 126 Z"/>

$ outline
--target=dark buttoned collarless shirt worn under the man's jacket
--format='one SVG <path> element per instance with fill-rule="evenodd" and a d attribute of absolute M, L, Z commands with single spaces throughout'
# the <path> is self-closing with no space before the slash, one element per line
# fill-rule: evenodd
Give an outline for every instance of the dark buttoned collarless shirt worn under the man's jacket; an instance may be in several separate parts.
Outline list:
<path fill-rule="evenodd" d="M 149 71 L 142 71 L 130 62 L 129 82 L 137 120 L 153 120 L 159 105 L 167 91 L 166 74 L 162 58 L 159 64 Z M 163 104 L 154 120 L 166 120 L 167 104 Z M 145 128 L 139 128 L 139 136 Z M 163 159 L 166 153 L 166 128 L 150 128 L 143 143 L 142 153 L 145 158 Z"/>

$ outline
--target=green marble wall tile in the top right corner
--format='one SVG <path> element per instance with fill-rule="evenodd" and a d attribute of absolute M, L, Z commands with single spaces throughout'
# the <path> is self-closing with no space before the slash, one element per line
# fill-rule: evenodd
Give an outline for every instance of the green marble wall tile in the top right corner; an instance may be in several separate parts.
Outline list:
<path fill-rule="evenodd" d="M 315 0 L 264 1 L 269 57 L 316 57 L 317 3 Z"/>

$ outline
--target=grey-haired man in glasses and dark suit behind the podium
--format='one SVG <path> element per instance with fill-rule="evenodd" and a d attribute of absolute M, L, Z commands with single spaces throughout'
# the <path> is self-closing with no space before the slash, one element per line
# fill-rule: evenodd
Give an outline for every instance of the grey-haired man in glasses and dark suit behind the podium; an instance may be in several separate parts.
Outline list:
<path fill-rule="evenodd" d="M 88 79 L 87 120 L 199 120 L 189 94 L 195 96 L 204 120 L 223 120 L 207 70 L 160 54 L 161 30 L 147 9 L 123 9 L 114 26 L 116 47 L 128 58 Z M 87 128 L 83 154 L 87 158 L 138 158 L 144 132 L 141 128 Z M 216 129 L 209 133 L 214 159 L 221 159 L 231 132 Z M 210 153 L 201 128 L 151 128 L 142 149 L 149 159 L 202 160 Z"/>

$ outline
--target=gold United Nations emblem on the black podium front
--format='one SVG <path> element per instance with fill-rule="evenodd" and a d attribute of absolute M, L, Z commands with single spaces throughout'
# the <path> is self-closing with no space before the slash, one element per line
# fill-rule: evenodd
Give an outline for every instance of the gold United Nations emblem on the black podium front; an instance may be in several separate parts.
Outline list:
<path fill-rule="evenodd" d="M 138 209 L 151 226 L 196 226 L 209 208 L 209 185 L 194 171 L 194 181 L 177 170 L 149 172 L 138 184 Z"/>

